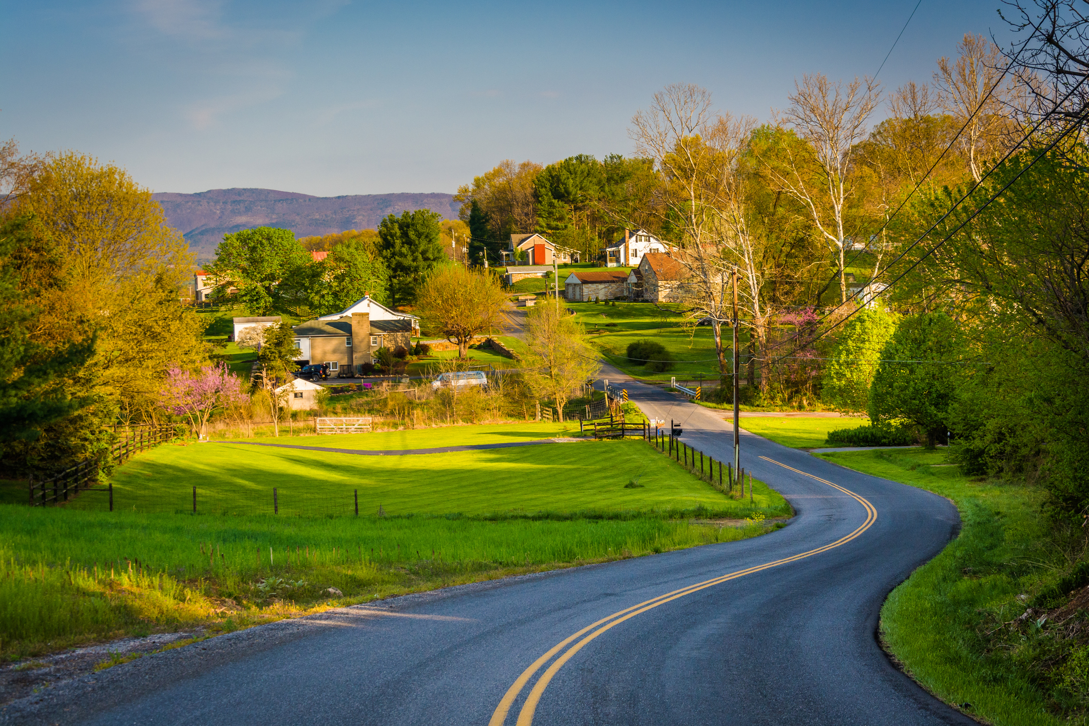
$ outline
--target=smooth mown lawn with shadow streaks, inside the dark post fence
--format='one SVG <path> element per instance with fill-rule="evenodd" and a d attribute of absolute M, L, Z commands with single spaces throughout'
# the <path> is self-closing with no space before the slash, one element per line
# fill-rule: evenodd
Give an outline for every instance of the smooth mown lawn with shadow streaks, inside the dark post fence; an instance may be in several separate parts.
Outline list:
<path fill-rule="evenodd" d="M 466 443 L 476 441 L 467 432 L 463 436 Z M 305 445 L 337 445 L 328 439 L 307 439 Z M 435 442 L 414 436 L 399 441 L 386 434 L 386 441 L 397 446 L 417 440 Z M 643 487 L 625 488 L 633 479 Z M 194 487 L 198 513 L 224 514 L 271 514 L 273 488 L 285 515 L 351 514 L 356 491 L 359 512 L 365 514 L 382 507 L 392 515 L 473 517 L 696 509 L 744 516 L 750 509 L 748 503 L 726 497 L 641 441 L 405 456 L 241 443 L 163 445 L 132 459 L 111 481 L 114 506 L 124 512 L 191 512 Z M 782 514 L 783 506 L 771 491 L 756 497 L 756 508 L 768 516 Z M 84 495 L 69 507 L 101 510 L 106 499 Z"/>

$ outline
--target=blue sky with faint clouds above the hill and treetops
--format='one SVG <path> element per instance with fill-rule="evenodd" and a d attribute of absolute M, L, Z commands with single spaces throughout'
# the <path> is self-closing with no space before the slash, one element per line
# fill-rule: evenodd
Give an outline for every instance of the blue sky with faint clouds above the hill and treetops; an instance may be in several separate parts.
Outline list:
<path fill-rule="evenodd" d="M 503 159 L 628 155 L 674 82 L 767 119 L 794 79 L 873 74 L 906 2 L 0 0 L 0 137 L 156 192 L 454 192 Z M 999 0 L 922 0 L 881 81 L 926 81 Z"/>

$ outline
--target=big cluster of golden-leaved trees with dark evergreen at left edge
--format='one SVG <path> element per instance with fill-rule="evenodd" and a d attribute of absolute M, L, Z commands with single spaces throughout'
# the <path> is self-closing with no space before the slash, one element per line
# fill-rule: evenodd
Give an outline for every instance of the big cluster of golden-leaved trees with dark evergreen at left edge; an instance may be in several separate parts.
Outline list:
<path fill-rule="evenodd" d="M 162 416 L 167 371 L 208 360 L 179 288 L 185 242 L 123 170 L 0 149 L 0 478 L 105 458 L 115 423 Z"/>

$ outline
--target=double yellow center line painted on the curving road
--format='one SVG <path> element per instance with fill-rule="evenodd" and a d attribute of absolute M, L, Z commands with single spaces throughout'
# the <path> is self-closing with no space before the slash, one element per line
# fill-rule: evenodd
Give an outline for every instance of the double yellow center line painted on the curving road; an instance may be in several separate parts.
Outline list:
<path fill-rule="evenodd" d="M 853 497 L 856 502 L 861 504 L 862 507 L 866 509 L 866 521 L 859 525 L 858 528 L 855 531 L 851 532 L 849 534 L 841 537 L 836 541 L 817 547 L 816 550 L 809 550 L 808 552 L 802 552 L 799 554 L 792 555 L 790 557 L 784 557 L 782 559 L 776 559 L 774 562 L 764 563 L 763 565 L 756 565 L 755 567 L 749 567 L 747 569 L 737 570 L 736 573 L 730 573 L 729 575 L 723 575 L 721 577 L 715 577 L 710 580 L 697 582 L 696 585 L 692 585 L 686 588 L 681 588 L 680 590 L 673 590 L 672 592 L 666 592 L 663 595 L 659 595 L 651 600 L 646 600 L 639 603 L 638 605 L 632 605 L 631 607 L 627 607 L 620 612 L 613 613 L 612 615 L 603 617 L 596 623 L 591 623 L 590 625 L 586 626 L 578 632 L 575 632 L 568 636 L 567 638 L 564 638 L 562 641 L 553 645 L 547 653 L 544 653 L 539 659 L 534 661 L 528 668 L 523 670 L 522 675 L 518 676 L 518 678 L 506 690 L 506 693 L 503 694 L 503 698 L 500 700 L 499 705 L 495 706 L 495 711 L 491 714 L 491 721 L 488 722 L 488 726 L 503 726 L 504 722 L 506 721 L 506 715 L 511 710 L 511 706 L 514 705 L 514 701 L 517 700 L 518 694 L 522 693 L 522 690 L 526 687 L 526 684 L 529 682 L 529 680 L 541 668 L 541 666 L 551 661 L 556 653 L 563 651 L 565 648 L 567 650 L 563 653 L 563 655 L 553 661 L 552 665 L 550 665 L 548 669 L 544 670 L 543 674 L 541 674 L 541 677 L 537 679 L 537 682 L 534 684 L 533 689 L 529 691 L 529 696 L 526 697 L 526 702 L 522 705 L 522 711 L 518 713 L 517 726 L 530 726 L 534 723 L 534 713 L 537 711 L 537 704 L 540 702 L 541 696 L 544 694 L 544 689 L 548 688 L 549 682 L 552 680 L 555 674 L 560 672 L 560 668 L 562 668 L 564 664 L 567 661 L 570 661 L 572 656 L 575 655 L 575 653 L 580 651 L 584 645 L 586 645 L 588 642 L 590 642 L 601 633 L 605 632 L 613 626 L 620 625 L 624 620 L 633 618 L 636 615 L 646 613 L 648 610 L 652 610 L 654 607 L 658 607 L 659 605 L 664 605 L 668 602 L 672 602 L 677 598 L 683 598 L 694 592 L 699 592 L 705 588 L 710 588 L 715 585 L 720 585 L 722 582 L 736 579 L 738 577 L 744 577 L 746 575 L 759 573 L 761 570 L 766 570 L 771 567 L 778 567 L 780 565 L 785 565 L 787 563 L 795 562 L 797 559 L 804 559 L 805 557 L 811 557 L 822 552 L 828 552 L 829 550 L 832 550 L 834 547 L 846 544 L 847 542 L 851 542 L 855 538 L 859 537 L 867 529 L 869 529 L 874 521 L 877 521 L 878 510 L 873 507 L 872 504 L 867 502 L 858 494 L 847 489 L 844 489 L 839 484 L 833 484 L 831 481 L 821 479 L 820 477 L 815 477 L 811 473 L 807 473 L 805 471 L 800 471 L 799 469 L 795 469 L 794 467 L 786 466 L 781 462 L 775 462 L 774 459 L 770 459 L 767 456 L 761 456 L 760 458 L 762 458 L 764 462 L 770 462 L 771 464 L 778 464 L 779 466 L 785 469 L 790 469 L 791 471 L 794 471 L 796 473 L 800 473 L 804 477 L 816 479 L 817 481 L 823 484 L 828 484 L 829 487 L 832 487 L 833 489 L 836 489 L 843 492 L 844 494 L 847 494 L 848 496 Z M 572 645 L 572 643 L 575 644 Z M 568 645 L 571 645 L 571 648 L 567 648 Z"/>

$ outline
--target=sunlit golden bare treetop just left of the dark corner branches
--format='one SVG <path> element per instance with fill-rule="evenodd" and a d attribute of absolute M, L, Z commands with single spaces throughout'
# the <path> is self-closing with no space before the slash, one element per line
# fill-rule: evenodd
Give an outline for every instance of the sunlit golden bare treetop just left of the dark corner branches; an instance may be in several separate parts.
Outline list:
<path fill-rule="evenodd" d="M 982 177 L 987 159 L 1002 148 L 1002 132 L 1008 128 L 1005 107 L 1012 88 L 1003 78 L 999 47 L 981 35 L 966 34 L 957 44 L 960 54 L 955 62 L 938 59 L 934 84 L 942 110 L 964 125 L 958 145 L 968 162 L 971 177 Z"/>

